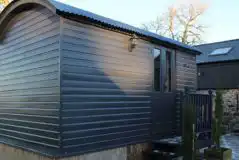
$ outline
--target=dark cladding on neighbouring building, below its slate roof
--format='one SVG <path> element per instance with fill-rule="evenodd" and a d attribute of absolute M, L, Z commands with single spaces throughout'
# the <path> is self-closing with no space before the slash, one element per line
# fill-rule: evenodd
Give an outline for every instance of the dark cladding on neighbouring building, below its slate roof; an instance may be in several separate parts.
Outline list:
<path fill-rule="evenodd" d="M 236 89 L 239 87 L 239 62 L 199 64 L 198 89 Z"/>

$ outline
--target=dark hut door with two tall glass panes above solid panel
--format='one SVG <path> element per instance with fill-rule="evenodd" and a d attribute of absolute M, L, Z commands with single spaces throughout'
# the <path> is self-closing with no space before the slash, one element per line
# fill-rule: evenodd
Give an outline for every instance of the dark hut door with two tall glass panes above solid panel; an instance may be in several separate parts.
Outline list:
<path fill-rule="evenodd" d="M 176 92 L 174 88 L 175 54 L 169 49 L 153 50 L 154 91 L 152 94 L 152 136 L 158 140 L 171 136 L 175 128 Z"/>

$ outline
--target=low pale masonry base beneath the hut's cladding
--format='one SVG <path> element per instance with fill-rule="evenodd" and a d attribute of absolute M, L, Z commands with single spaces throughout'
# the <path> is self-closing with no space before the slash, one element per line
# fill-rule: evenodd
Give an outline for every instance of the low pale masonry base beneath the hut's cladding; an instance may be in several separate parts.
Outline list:
<path fill-rule="evenodd" d="M 19 148 L 0 144 L 0 160 L 143 160 L 142 152 L 149 144 L 137 144 L 101 152 L 94 152 L 67 158 L 48 158 Z"/>

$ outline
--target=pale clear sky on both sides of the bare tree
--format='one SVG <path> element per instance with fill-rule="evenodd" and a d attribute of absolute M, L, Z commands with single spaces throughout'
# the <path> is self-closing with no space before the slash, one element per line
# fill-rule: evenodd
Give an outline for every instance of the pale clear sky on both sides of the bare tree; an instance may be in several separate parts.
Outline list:
<path fill-rule="evenodd" d="M 154 20 L 165 13 L 171 5 L 189 3 L 189 0 L 59 1 L 136 27 Z M 208 9 L 200 20 L 207 26 L 203 41 L 211 43 L 239 39 L 239 0 L 203 0 L 203 3 L 208 5 Z"/>

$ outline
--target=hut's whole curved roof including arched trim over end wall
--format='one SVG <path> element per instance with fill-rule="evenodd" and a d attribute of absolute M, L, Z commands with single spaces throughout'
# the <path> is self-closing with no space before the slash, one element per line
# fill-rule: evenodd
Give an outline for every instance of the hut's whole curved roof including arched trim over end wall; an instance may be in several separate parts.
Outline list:
<path fill-rule="evenodd" d="M 139 29 L 137 27 L 130 26 L 128 24 L 125 24 L 119 21 L 115 21 L 100 15 L 94 14 L 89 11 L 85 11 L 85 10 L 67 5 L 65 3 L 58 2 L 56 0 L 15 0 L 11 2 L 0 14 L 0 28 L 4 28 L 4 26 L 6 26 L 9 19 L 14 15 L 13 13 L 16 14 L 26 9 L 28 6 L 31 7 L 36 4 L 47 7 L 52 12 L 69 19 L 73 17 L 74 19 L 84 18 L 84 20 L 89 20 L 90 22 L 97 23 L 107 28 L 117 29 L 123 32 L 137 34 L 139 36 L 150 38 L 150 40 L 152 41 L 156 41 L 158 43 L 161 43 L 162 45 L 169 46 L 171 48 L 181 49 L 193 54 L 201 54 L 200 50 L 192 46 L 180 43 L 178 41 L 160 36 L 158 34 L 155 34 L 149 31 Z M 3 34 L 3 32 L 4 30 L 0 30 L 0 37 Z"/>

